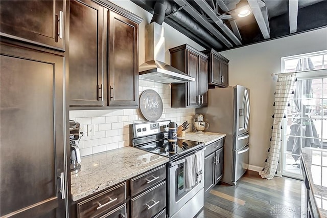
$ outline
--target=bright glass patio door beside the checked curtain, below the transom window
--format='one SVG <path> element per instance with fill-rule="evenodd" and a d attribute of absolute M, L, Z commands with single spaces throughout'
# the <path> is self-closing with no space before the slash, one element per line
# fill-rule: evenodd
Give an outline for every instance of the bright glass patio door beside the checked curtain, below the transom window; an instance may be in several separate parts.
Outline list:
<path fill-rule="evenodd" d="M 282 147 L 282 175 L 302 178 L 300 149 L 327 149 L 327 76 L 298 79 L 287 108 Z"/>

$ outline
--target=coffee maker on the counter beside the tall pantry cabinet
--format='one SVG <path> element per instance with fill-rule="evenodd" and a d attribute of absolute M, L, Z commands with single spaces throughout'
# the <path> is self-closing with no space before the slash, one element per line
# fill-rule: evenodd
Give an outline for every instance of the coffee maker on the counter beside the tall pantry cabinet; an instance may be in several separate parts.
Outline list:
<path fill-rule="evenodd" d="M 81 170 L 81 154 L 78 147 L 80 140 L 80 124 L 74 120 L 69 120 L 69 145 L 71 145 L 71 174 Z"/>

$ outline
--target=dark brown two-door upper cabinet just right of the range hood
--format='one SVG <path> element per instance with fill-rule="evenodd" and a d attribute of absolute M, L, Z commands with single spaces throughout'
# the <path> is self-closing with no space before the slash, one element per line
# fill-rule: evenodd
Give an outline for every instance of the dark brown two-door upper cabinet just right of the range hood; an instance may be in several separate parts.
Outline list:
<path fill-rule="evenodd" d="M 171 66 L 195 78 L 192 82 L 171 84 L 172 107 L 207 106 L 208 57 L 187 44 L 169 51 Z"/>

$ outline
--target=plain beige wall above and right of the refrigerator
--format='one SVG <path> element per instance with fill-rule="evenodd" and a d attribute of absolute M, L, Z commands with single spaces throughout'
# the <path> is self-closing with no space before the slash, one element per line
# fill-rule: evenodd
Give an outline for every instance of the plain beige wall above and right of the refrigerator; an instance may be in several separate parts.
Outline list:
<path fill-rule="evenodd" d="M 229 59 L 229 85 L 244 85 L 251 91 L 249 164 L 265 165 L 276 84 L 271 73 L 281 72 L 281 58 L 326 49 L 327 28 L 323 28 L 220 52 Z"/>

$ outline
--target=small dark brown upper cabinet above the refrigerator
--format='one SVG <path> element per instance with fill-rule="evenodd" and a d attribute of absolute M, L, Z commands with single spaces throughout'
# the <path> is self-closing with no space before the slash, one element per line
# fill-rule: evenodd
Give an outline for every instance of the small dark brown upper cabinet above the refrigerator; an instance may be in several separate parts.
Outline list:
<path fill-rule="evenodd" d="M 229 60 L 214 49 L 208 49 L 202 52 L 209 57 L 208 84 L 227 87 Z"/>

